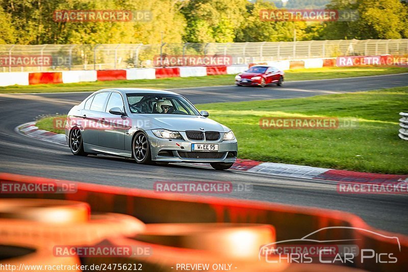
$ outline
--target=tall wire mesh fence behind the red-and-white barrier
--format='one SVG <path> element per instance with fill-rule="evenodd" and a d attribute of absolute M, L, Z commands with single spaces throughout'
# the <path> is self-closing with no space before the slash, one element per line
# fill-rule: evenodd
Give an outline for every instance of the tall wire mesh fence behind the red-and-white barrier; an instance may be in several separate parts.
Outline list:
<path fill-rule="evenodd" d="M 408 39 L 163 44 L 0 44 L 0 71 L 91 70 L 152 67 L 166 55 L 231 56 L 234 63 L 408 54 Z M 51 56 L 49 65 L 11 63 L 19 56 Z"/>

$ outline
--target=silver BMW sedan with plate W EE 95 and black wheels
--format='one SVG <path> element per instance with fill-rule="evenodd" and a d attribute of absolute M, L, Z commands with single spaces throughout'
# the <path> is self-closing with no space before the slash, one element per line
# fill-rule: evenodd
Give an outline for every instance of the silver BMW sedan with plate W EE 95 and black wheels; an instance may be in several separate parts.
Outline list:
<path fill-rule="evenodd" d="M 170 91 L 102 89 L 69 111 L 65 136 L 74 155 L 113 155 L 141 164 L 200 162 L 228 169 L 237 159 L 237 140 L 208 115 Z"/>

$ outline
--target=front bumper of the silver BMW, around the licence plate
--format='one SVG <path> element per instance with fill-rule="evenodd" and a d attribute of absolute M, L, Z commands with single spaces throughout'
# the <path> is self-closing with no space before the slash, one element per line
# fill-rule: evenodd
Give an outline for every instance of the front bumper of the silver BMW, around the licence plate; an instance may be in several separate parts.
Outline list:
<path fill-rule="evenodd" d="M 151 159 L 164 162 L 225 162 L 234 163 L 237 160 L 238 143 L 237 140 L 223 141 L 223 133 L 217 141 L 194 141 L 181 139 L 164 139 L 154 135 L 151 131 L 146 131 L 150 141 Z M 180 132 L 184 139 L 185 133 Z M 191 151 L 192 143 L 218 144 L 217 152 Z M 187 156 L 185 156 L 187 155 Z M 194 156 L 197 155 L 197 156 Z M 197 158 L 198 157 L 198 158 Z"/>

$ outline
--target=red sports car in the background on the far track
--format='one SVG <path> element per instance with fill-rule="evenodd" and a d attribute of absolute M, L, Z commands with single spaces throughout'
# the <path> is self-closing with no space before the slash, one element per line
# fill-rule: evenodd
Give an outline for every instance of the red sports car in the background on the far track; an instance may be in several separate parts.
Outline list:
<path fill-rule="evenodd" d="M 250 67 L 243 73 L 235 76 L 235 84 L 238 86 L 261 86 L 284 84 L 285 73 L 276 67 L 256 65 Z"/>

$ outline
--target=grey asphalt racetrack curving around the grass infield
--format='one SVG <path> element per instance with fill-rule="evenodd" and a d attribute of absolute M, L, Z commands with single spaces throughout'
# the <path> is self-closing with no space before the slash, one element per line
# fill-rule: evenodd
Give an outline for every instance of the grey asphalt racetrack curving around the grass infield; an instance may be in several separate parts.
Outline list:
<path fill-rule="evenodd" d="M 288 82 L 284 87 L 238 86 L 173 90 L 192 103 L 307 97 L 408 85 L 408 74 L 366 78 Z M 138 165 L 109 156 L 73 156 L 68 146 L 29 138 L 15 132 L 41 114 L 67 113 L 89 92 L 0 94 L 0 171 L 129 188 L 152 189 L 156 181 L 231 181 L 251 184 L 252 190 L 218 194 L 220 197 L 258 200 L 342 210 L 361 216 L 369 225 L 408 235 L 407 195 L 339 194 L 336 182 L 262 176 L 242 171 L 216 171 L 186 164 Z M 210 112 L 211 117 L 211 112 Z"/>

